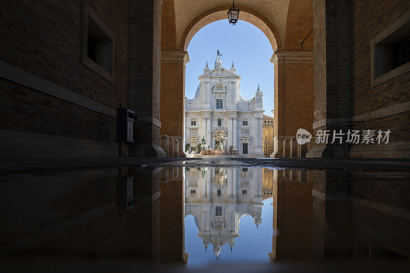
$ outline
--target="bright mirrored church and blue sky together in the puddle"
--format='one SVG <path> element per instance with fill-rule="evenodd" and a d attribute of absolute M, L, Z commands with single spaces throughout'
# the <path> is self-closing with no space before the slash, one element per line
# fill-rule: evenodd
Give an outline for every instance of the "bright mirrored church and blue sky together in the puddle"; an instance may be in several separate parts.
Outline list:
<path fill-rule="evenodd" d="M 188 265 L 216 260 L 269 262 L 271 203 L 272 183 L 263 181 L 261 168 L 186 168 Z M 266 216 L 263 224 L 262 216 Z"/>

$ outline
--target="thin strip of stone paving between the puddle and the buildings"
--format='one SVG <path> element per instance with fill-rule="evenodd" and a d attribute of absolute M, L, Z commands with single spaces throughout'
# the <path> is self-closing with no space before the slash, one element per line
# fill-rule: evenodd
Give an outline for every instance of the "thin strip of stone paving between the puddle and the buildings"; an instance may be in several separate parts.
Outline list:
<path fill-rule="evenodd" d="M 260 166 L 284 169 L 410 171 L 410 159 L 353 158 L 0 158 L 0 173 L 116 166 Z"/>

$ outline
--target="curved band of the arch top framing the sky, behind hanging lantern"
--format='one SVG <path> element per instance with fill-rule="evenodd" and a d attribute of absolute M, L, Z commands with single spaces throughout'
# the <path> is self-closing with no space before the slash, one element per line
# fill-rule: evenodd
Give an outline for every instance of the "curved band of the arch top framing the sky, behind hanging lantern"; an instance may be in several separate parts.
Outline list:
<path fill-rule="evenodd" d="M 191 39 L 204 26 L 211 24 L 212 22 L 215 22 L 217 20 L 226 19 L 227 11 L 229 10 L 229 8 L 230 6 L 219 6 L 204 11 L 197 17 L 195 17 L 195 19 L 191 21 L 191 23 L 183 32 L 181 40 L 179 42 L 179 49 L 187 50 Z M 269 39 L 274 51 L 278 48 L 282 48 L 282 43 L 279 38 L 278 32 L 265 16 L 247 7 L 238 6 L 238 8 L 240 9 L 240 20 L 248 22 L 259 28 Z"/>

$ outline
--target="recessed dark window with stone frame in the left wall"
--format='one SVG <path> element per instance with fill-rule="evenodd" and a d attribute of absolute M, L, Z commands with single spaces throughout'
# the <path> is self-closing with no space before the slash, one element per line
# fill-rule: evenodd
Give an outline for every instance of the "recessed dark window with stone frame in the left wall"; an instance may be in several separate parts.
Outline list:
<path fill-rule="evenodd" d="M 83 16 L 83 64 L 114 83 L 114 34 L 87 4 Z"/>

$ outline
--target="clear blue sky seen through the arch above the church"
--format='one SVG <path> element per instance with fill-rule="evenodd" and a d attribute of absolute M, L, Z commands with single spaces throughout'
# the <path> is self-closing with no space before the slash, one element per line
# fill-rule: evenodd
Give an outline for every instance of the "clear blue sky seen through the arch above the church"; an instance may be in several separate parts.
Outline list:
<path fill-rule="evenodd" d="M 269 61 L 273 50 L 268 38 L 254 25 L 239 20 L 235 26 L 228 19 L 211 23 L 199 30 L 188 46 L 191 61 L 187 64 L 185 95 L 192 99 L 198 87 L 198 76 L 208 60 L 212 70 L 219 49 L 222 66 L 230 69 L 232 61 L 241 76 L 241 95 L 251 99 L 260 85 L 265 115 L 272 116 L 274 75 Z"/>

